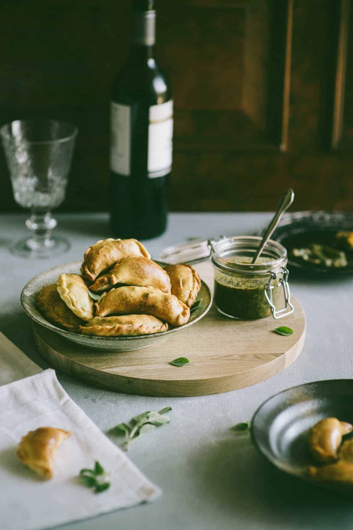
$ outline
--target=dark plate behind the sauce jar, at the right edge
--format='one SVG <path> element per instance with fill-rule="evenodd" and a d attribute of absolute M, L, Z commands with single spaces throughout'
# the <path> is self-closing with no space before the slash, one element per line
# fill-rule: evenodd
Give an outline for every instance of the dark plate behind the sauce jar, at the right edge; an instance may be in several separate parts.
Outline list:
<path fill-rule="evenodd" d="M 267 226 L 261 229 L 264 234 Z M 332 246 L 334 236 L 339 231 L 353 232 L 353 214 L 327 211 L 296 211 L 285 214 L 272 234 L 271 239 L 281 243 L 288 252 L 288 266 L 313 275 L 352 275 L 353 252 L 346 252 L 347 267 L 330 268 L 313 263 L 305 263 L 291 256 L 291 249 L 302 248 L 309 243 Z"/>

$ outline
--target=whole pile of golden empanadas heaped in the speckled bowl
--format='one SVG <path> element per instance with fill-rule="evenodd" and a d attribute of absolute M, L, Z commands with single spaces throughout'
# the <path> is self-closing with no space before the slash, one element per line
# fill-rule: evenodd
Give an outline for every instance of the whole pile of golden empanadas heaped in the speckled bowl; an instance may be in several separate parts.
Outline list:
<path fill-rule="evenodd" d="M 162 269 L 135 239 L 97 241 L 81 273 L 42 287 L 37 306 L 53 324 L 85 335 L 143 335 L 186 324 L 201 287 L 191 266 Z M 100 295 L 96 301 L 92 293 Z"/>

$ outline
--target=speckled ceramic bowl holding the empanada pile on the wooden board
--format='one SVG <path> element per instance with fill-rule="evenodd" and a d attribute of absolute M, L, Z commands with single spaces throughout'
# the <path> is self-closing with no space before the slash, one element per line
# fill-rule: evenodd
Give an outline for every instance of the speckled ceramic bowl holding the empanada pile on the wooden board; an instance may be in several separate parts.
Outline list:
<path fill-rule="evenodd" d="M 48 320 L 44 319 L 42 314 L 38 311 L 37 304 L 35 299 L 43 287 L 43 285 L 55 284 L 60 274 L 62 273 L 76 273 L 80 274 L 79 269 L 81 261 L 72 261 L 71 263 L 66 263 L 65 265 L 58 265 L 52 269 L 48 269 L 44 272 L 41 272 L 38 276 L 35 276 L 32 280 L 28 282 L 27 285 L 23 288 L 21 294 L 21 304 L 24 311 L 28 316 L 38 324 L 44 326 L 51 331 L 55 331 L 65 337 L 68 340 L 77 342 L 81 346 L 86 348 L 91 348 L 94 350 L 105 350 L 105 351 L 131 351 L 131 350 L 140 350 L 142 348 L 147 348 L 164 340 L 171 333 L 176 333 L 181 331 L 192 324 L 195 324 L 198 320 L 202 319 L 203 316 L 209 311 L 212 305 L 212 295 L 210 293 L 209 287 L 201 280 L 201 289 L 198 292 L 197 300 L 201 300 L 201 304 L 193 311 L 190 316 L 190 320 L 187 324 L 179 326 L 178 328 L 171 328 L 168 331 L 163 331 L 162 333 L 153 333 L 151 335 L 135 335 L 133 337 L 90 337 L 89 335 L 81 335 L 79 333 L 73 333 L 72 331 L 66 331 L 61 328 L 58 328 L 56 325 L 51 324 Z M 158 263 L 158 262 L 157 262 Z M 160 266 L 163 267 L 164 263 L 160 263 Z"/>

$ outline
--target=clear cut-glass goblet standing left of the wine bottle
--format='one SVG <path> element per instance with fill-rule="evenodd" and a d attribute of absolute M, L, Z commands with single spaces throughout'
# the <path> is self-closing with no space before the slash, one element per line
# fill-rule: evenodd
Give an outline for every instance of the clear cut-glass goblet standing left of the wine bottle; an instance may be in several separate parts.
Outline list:
<path fill-rule="evenodd" d="M 26 258 L 49 258 L 70 243 L 51 231 L 57 220 L 53 208 L 64 201 L 77 128 L 56 120 L 16 120 L 0 128 L 15 201 L 30 208 L 26 226 L 30 237 L 10 250 Z"/>

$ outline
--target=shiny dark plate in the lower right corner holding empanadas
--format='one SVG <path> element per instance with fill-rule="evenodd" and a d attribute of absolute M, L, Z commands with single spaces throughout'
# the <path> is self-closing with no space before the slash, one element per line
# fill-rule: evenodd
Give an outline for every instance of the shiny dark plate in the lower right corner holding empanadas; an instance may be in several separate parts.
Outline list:
<path fill-rule="evenodd" d="M 330 379 L 294 386 L 274 395 L 255 412 L 251 433 L 258 451 L 278 469 L 315 485 L 353 496 L 353 487 L 324 484 L 306 476 L 318 466 L 308 445 L 309 430 L 323 418 L 353 423 L 353 379 Z M 348 440 L 353 433 L 343 437 Z"/>

